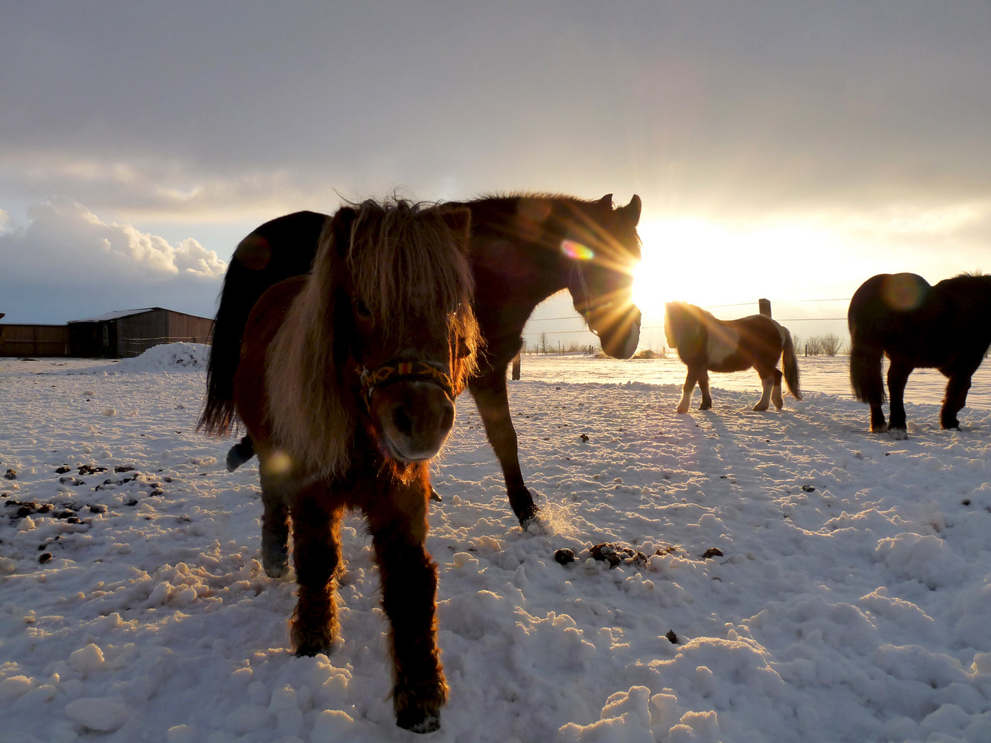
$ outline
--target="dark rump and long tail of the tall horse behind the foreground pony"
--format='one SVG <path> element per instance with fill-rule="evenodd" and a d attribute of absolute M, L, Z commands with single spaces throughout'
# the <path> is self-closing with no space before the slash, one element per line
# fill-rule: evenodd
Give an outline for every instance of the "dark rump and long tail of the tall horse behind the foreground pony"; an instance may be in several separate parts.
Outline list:
<path fill-rule="evenodd" d="M 206 367 L 206 405 L 196 424 L 226 436 L 235 422 L 234 376 L 252 307 L 270 286 L 309 270 L 325 214 L 296 212 L 266 222 L 241 241 L 224 275 Z M 250 457 L 249 457 L 250 459 Z"/>

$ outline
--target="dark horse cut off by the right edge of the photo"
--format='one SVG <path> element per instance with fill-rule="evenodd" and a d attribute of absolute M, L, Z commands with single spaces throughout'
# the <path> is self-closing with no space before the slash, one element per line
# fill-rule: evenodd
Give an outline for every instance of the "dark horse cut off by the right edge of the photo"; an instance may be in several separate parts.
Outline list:
<path fill-rule="evenodd" d="M 949 378 L 939 425 L 958 428 L 956 414 L 967 402 L 970 377 L 991 345 L 991 276 L 961 274 L 936 286 L 915 273 L 879 273 L 864 281 L 850 300 L 850 382 L 870 405 L 870 430 L 908 438 L 905 384 L 919 368 Z M 891 361 L 891 417 L 884 422 L 881 357 Z"/>

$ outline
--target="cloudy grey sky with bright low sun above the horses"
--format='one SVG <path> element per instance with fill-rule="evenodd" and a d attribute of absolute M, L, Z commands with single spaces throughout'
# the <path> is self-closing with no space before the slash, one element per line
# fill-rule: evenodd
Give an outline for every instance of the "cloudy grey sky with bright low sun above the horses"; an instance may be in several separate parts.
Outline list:
<path fill-rule="evenodd" d="M 0 312 L 212 315 L 279 214 L 527 189 L 639 194 L 651 301 L 842 316 L 789 302 L 991 271 L 989 39 L 986 0 L 5 3 Z"/>

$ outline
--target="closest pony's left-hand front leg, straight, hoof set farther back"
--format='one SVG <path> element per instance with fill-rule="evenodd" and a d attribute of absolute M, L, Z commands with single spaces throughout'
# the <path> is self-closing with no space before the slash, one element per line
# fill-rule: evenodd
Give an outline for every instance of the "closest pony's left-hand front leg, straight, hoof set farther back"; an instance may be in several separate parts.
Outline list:
<path fill-rule="evenodd" d="M 343 507 L 332 507 L 320 486 L 292 500 L 292 564 L 299 599 L 289 635 L 297 656 L 329 653 L 338 634 L 333 581 L 341 564 L 342 513 Z"/>

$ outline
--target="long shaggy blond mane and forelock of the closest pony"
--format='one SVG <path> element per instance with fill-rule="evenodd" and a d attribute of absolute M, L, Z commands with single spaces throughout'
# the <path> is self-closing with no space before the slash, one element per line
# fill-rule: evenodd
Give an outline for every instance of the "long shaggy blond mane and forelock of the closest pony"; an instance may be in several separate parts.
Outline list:
<path fill-rule="evenodd" d="M 476 350 L 468 215 L 462 215 L 459 233 L 452 229 L 452 213 L 432 204 L 368 200 L 343 207 L 324 226 L 313 268 L 286 313 L 266 365 L 275 442 L 307 472 L 339 476 L 350 461 L 356 404 L 344 375 L 349 350 L 340 327 L 341 316 L 351 311 L 341 304 L 349 299 L 342 285 L 345 271 L 354 298 L 394 336 L 443 315 L 450 332 Z M 345 247 L 338 244 L 342 227 L 350 236 Z M 467 378 L 474 359 L 474 353 L 469 355 L 462 373 L 452 375 Z"/>

